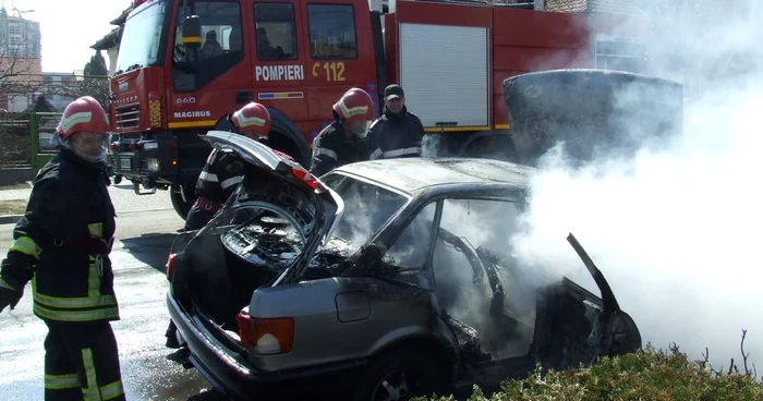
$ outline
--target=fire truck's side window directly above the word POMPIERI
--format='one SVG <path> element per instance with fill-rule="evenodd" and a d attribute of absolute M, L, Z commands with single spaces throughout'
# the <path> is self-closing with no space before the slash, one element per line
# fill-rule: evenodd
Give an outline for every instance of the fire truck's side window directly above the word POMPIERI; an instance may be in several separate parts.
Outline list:
<path fill-rule="evenodd" d="M 296 59 L 296 27 L 291 3 L 255 3 L 257 58 L 263 61 Z"/>

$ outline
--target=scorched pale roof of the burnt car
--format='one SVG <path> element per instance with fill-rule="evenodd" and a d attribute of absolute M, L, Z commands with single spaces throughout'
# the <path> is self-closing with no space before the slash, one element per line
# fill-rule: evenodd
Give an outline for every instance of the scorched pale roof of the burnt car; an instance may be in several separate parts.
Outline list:
<path fill-rule="evenodd" d="M 354 162 L 335 171 L 414 193 L 447 184 L 526 187 L 531 175 L 537 170 L 494 159 L 409 157 Z"/>

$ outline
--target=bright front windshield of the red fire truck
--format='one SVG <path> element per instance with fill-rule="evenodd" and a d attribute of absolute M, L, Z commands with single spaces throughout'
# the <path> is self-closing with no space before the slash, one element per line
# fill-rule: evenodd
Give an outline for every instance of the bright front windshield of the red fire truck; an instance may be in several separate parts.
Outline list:
<path fill-rule="evenodd" d="M 160 0 L 130 15 L 122 33 L 117 72 L 156 65 L 161 61 L 159 44 L 167 9 L 167 2 Z"/>

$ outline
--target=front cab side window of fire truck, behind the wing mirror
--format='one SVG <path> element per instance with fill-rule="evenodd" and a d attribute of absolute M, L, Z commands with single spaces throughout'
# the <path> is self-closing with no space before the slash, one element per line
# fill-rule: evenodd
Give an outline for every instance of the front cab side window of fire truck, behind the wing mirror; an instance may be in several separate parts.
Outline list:
<path fill-rule="evenodd" d="M 195 69 L 185 62 L 182 22 L 185 15 L 198 15 L 202 22 L 202 48 Z M 173 81 L 174 90 L 198 90 L 244 59 L 241 8 L 233 1 L 190 2 L 175 20 Z"/>

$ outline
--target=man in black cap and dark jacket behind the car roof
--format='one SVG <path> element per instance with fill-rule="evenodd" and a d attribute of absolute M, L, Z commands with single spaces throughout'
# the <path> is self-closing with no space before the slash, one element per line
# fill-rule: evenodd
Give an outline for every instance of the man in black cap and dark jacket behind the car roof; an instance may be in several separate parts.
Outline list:
<path fill-rule="evenodd" d="M 384 113 L 371 125 L 371 136 L 385 159 L 421 156 L 424 125 L 405 107 L 405 93 L 400 85 L 384 89 Z"/>

